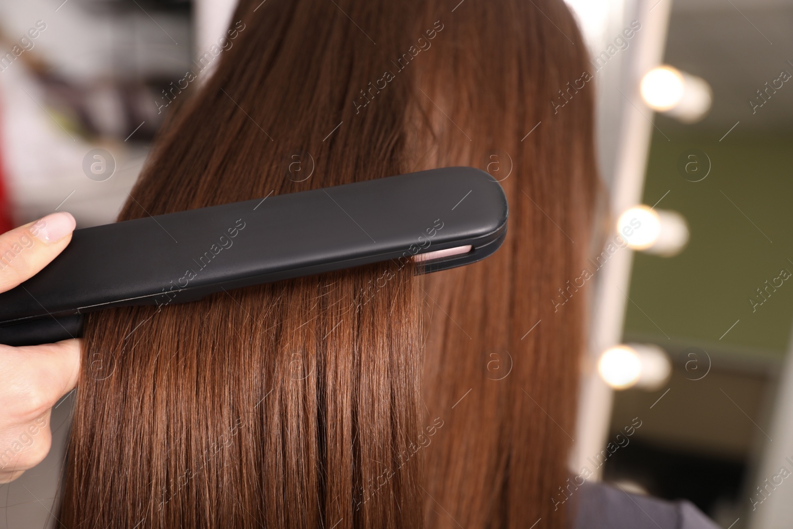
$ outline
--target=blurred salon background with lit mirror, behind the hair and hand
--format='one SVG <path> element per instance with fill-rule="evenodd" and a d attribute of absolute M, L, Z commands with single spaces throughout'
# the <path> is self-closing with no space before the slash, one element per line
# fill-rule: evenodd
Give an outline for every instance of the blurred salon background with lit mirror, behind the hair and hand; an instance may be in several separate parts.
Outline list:
<path fill-rule="evenodd" d="M 596 90 L 611 198 L 588 274 L 548 300 L 592 282 L 571 470 L 725 529 L 793 527 L 793 0 L 566 1 L 592 80 L 548 104 Z M 233 3 L 0 3 L 2 231 L 112 222 L 163 117 L 234 45 Z M 70 410 L 0 486 L 0 527 L 58 527 Z"/>

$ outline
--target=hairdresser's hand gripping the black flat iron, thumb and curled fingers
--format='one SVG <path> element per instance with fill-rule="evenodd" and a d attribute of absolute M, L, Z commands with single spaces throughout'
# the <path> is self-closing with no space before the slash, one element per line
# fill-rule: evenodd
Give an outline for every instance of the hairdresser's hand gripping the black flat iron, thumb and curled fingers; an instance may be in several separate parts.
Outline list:
<path fill-rule="evenodd" d="M 67 247 L 74 229 L 69 213 L 52 213 L 0 235 L 0 292 L 47 266 Z M 17 479 L 47 455 L 52 406 L 74 389 L 79 370 L 79 339 L 0 345 L 0 483 Z"/>

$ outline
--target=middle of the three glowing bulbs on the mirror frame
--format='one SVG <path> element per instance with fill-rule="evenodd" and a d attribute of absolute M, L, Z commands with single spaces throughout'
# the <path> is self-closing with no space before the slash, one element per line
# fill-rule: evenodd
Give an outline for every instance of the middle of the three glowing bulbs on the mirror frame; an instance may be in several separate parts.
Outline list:
<path fill-rule="evenodd" d="M 688 224 L 680 213 L 637 205 L 619 216 L 617 232 L 628 247 L 672 257 L 688 243 Z"/>

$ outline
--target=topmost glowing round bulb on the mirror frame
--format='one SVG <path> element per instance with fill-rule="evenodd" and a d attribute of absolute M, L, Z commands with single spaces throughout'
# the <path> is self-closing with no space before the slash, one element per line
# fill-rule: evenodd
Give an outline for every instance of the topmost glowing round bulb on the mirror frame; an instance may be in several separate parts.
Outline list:
<path fill-rule="evenodd" d="M 684 123 L 701 120 L 713 102 L 713 91 L 707 81 L 671 66 L 648 71 L 639 91 L 651 109 Z"/>

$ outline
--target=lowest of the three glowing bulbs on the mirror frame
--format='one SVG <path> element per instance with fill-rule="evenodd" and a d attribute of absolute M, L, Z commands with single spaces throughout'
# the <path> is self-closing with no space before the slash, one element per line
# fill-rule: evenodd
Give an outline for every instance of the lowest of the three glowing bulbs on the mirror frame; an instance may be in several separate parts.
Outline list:
<path fill-rule="evenodd" d="M 611 347 L 600 355 L 600 377 L 614 389 L 636 387 L 654 391 L 665 385 L 672 374 L 666 351 L 650 343 Z"/>

